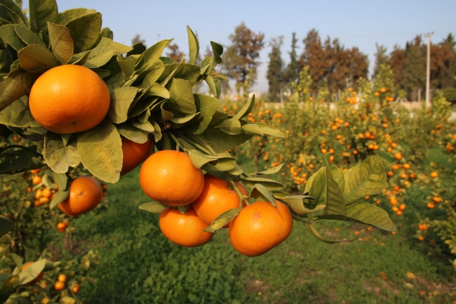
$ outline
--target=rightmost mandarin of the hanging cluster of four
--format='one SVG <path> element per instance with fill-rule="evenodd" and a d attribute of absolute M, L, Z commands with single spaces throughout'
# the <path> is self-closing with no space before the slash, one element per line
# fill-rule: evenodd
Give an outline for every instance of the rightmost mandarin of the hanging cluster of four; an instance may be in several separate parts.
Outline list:
<path fill-rule="evenodd" d="M 261 256 L 285 241 L 293 230 L 288 207 L 276 201 L 277 208 L 266 201 L 244 207 L 229 224 L 229 240 L 244 256 Z"/>

